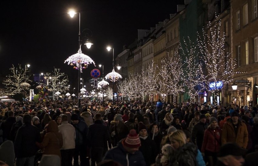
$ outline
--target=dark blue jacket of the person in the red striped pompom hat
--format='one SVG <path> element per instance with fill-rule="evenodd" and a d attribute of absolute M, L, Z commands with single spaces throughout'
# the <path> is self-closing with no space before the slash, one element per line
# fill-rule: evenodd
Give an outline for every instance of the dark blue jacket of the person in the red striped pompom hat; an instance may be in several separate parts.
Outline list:
<path fill-rule="evenodd" d="M 134 154 L 128 153 L 125 151 L 121 141 L 117 144 L 116 147 L 110 149 L 104 160 L 114 160 L 123 166 L 145 166 L 144 157 L 141 151 L 136 151 Z"/>

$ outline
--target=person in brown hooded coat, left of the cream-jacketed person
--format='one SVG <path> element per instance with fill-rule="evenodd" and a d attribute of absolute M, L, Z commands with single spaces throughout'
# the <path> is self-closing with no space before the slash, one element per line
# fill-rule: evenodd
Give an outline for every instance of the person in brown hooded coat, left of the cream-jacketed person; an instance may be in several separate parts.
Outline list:
<path fill-rule="evenodd" d="M 47 133 L 45 134 L 41 143 L 36 142 L 38 147 L 43 148 L 43 155 L 54 154 L 60 157 L 60 148 L 63 146 L 63 136 L 58 132 L 58 125 L 55 121 L 50 121 L 47 126 Z"/>

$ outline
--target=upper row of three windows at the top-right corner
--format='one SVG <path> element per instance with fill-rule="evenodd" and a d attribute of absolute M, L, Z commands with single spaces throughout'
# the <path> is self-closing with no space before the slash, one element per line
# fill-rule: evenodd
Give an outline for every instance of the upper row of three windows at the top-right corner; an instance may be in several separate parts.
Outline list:
<path fill-rule="evenodd" d="M 248 3 L 243 6 L 243 26 L 247 25 L 248 20 Z M 252 19 L 257 18 L 257 0 L 252 0 L 251 4 Z M 250 12 L 249 12 L 250 13 Z M 240 10 L 236 12 L 236 31 L 240 29 Z"/>

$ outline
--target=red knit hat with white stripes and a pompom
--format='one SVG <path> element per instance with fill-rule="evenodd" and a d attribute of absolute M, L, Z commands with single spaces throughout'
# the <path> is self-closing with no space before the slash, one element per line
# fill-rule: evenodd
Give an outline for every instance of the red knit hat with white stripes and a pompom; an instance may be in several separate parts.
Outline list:
<path fill-rule="evenodd" d="M 139 148 L 141 146 L 141 140 L 136 130 L 130 130 L 127 137 L 123 140 L 123 144 L 128 148 Z"/>

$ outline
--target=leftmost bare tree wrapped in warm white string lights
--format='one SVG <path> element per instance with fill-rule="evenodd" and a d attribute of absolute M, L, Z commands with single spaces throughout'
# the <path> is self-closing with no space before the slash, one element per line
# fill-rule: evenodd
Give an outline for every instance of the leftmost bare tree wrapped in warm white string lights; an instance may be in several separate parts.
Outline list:
<path fill-rule="evenodd" d="M 20 64 L 18 64 L 18 67 L 16 68 L 14 65 L 10 68 L 10 71 L 12 72 L 11 75 L 7 75 L 7 79 L 3 81 L 3 84 L 5 85 L 5 94 L 6 95 L 15 95 L 21 93 L 21 90 L 28 90 L 28 86 L 22 86 L 23 83 L 31 82 L 29 80 L 29 75 L 26 75 L 26 72 L 28 71 L 28 68 L 22 68 Z"/>

